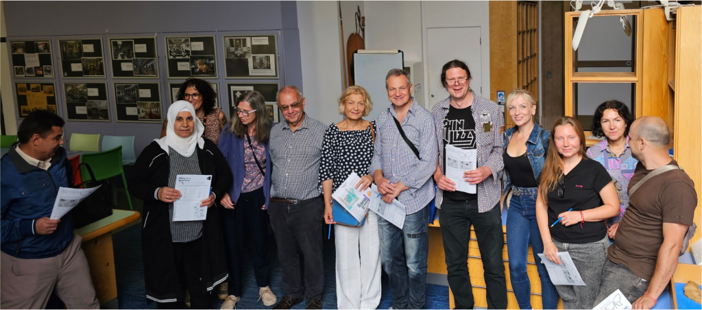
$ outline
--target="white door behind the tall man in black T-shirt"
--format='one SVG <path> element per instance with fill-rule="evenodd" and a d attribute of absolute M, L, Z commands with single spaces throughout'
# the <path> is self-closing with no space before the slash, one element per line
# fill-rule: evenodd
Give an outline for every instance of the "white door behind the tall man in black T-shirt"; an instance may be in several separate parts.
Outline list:
<path fill-rule="evenodd" d="M 482 96 L 480 27 L 441 27 L 427 29 L 429 110 L 449 97 L 441 82 L 441 70 L 450 60 L 463 60 L 470 70 L 470 89 Z"/>

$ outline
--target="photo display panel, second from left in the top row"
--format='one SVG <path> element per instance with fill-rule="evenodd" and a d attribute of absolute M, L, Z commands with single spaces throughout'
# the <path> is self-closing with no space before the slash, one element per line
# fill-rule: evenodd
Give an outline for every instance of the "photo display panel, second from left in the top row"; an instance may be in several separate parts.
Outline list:
<path fill-rule="evenodd" d="M 58 47 L 63 77 L 67 79 L 105 78 L 105 53 L 102 51 L 102 39 L 59 40 Z"/>

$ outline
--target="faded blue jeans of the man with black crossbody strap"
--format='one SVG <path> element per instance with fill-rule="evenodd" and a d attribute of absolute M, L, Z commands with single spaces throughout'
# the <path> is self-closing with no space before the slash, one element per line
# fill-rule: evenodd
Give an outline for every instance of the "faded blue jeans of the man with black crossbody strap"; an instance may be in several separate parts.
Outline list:
<path fill-rule="evenodd" d="M 424 307 L 429 254 L 428 223 L 429 205 L 408 214 L 402 229 L 378 217 L 380 261 L 390 279 L 393 310 Z"/>

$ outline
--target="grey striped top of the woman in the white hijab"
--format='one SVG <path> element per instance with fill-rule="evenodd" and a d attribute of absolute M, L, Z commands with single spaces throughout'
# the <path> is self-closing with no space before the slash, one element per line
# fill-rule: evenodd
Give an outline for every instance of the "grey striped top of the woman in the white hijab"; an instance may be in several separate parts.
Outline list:
<path fill-rule="evenodd" d="M 168 158 L 171 164 L 168 187 L 176 187 L 178 174 L 201 174 L 197 151 L 192 153 L 190 157 L 185 157 L 170 148 L 168 154 L 171 154 Z M 202 221 L 173 221 L 173 202 L 168 203 L 168 218 L 171 219 L 171 240 L 174 243 L 187 243 L 202 236 Z"/>

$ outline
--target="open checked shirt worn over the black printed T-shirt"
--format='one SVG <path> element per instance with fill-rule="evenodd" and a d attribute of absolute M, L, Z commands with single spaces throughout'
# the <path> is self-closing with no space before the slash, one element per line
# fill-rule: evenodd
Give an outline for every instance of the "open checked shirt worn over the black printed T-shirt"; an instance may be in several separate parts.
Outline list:
<path fill-rule="evenodd" d="M 472 93 L 472 91 L 471 91 Z M 432 108 L 434 124 L 436 130 L 436 141 L 439 146 L 444 144 L 444 118 L 449 114 L 449 105 L 451 98 L 446 98 L 439 101 Z M 498 108 L 497 103 L 489 99 L 475 96 L 473 93 L 473 103 L 470 105 L 475 120 L 475 136 L 477 143 L 477 167 L 488 167 L 492 174 L 478 183 L 478 212 L 488 212 L 497 205 L 500 201 L 501 182 L 500 174 L 505 167 L 502 158 L 502 147 L 504 144 L 503 129 L 505 126 L 505 117 L 503 112 Z M 489 129 L 489 130 L 486 130 Z M 439 158 L 444 158 L 444 148 L 439 148 Z M 443 174 L 444 161 L 439 160 Z M 436 169 L 436 167 L 435 167 Z M 441 208 L 444 200 L 444 190 L 437 188 L 436 206 Z"/>

